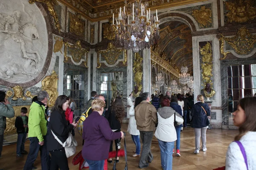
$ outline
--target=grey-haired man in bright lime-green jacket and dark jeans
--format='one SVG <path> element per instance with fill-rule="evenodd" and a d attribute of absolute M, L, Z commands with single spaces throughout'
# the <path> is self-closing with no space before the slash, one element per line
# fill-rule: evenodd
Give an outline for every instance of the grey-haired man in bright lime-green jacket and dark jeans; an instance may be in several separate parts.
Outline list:
<path fill-rule="evenodd" d="M 30 106 L 29 111 L 29 154 L 26 159 L 24 170 L 32 170 L 35 159 L 40 150 L 42 170 L 49 170 L 49 152 L 46 147 L 47 120 L 45 106 L 49 95 L 46 91 L 38 93 L 38 101 Z"/>

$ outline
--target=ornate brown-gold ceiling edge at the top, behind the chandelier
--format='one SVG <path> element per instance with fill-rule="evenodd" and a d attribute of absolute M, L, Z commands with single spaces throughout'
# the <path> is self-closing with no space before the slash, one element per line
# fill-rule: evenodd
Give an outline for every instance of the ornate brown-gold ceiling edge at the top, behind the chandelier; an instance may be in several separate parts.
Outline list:
<path fill-rule="evenodd" d="M 90 20 L 96 22 L 99 20 L 108 19 L 112 17 L 113 13 L 118 16 L 119 7 L 125 5 L 125 1 L 133 2 L 135 0 L 58 0 L 65 6 L 73 9 L 76 12 L 80 12 L 81 15 Z M 142 0 L 147 2 L 148 8 L 151 11 L 155 9 L 169 8 L 173 6 L 181 6 L 190 3 L 196 3 L 205 0 Z"/>

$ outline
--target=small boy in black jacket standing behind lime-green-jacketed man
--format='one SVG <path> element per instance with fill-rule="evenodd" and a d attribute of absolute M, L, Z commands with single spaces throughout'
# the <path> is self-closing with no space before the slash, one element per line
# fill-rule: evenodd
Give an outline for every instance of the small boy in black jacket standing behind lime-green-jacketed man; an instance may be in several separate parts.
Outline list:
<path fill-rule="evenodd" d="M 17 128 L 18 139 L 17 139 L 17 150 L 16 156 L 23 157 L 22 154 L 27 154 L 28 152 L 25 150 L 25 142 L 26 136 L 29 132 L 28 122 L 29 118 L 26 116 L 28 113 L 28 109 L 23 107 L 20 109 L 20 116 L 16 117 L 15 127 Z"/>

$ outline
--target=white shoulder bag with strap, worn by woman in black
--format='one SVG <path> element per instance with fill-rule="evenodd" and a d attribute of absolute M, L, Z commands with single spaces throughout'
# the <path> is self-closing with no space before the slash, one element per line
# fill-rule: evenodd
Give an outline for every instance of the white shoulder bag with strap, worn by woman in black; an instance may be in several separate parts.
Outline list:
<path fill-rule="evenodd" d="M 67 158 L 76 153 L 77 142 L 76 139 L 73 138 L 71 132 L 68 133 L 67 140 L 64 143 L 62 143 L 61 140 L 58 139 L 58 137 L 53 132 L 52 135 L 59 142 L 59 144 L 61 144 L 61 146 L 65 148 Z"/>

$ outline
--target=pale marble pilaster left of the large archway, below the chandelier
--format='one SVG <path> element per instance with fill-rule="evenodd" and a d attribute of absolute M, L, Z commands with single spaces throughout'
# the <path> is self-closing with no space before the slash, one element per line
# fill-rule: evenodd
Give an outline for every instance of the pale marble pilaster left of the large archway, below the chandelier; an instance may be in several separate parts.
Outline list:
<path fill-rule="evenodd" d="M 148 92 L 151 94 L 151 62 L 150 62 L 150 49 L 143 50 L 143 93 Z"/>

